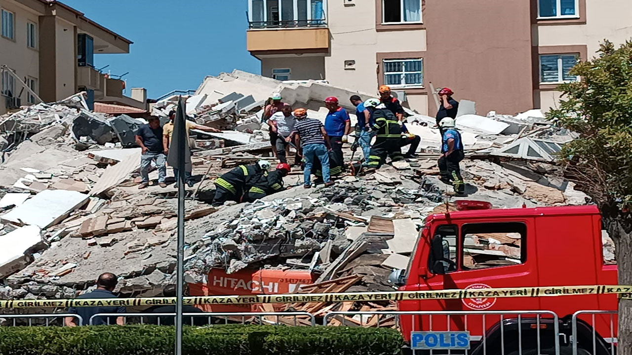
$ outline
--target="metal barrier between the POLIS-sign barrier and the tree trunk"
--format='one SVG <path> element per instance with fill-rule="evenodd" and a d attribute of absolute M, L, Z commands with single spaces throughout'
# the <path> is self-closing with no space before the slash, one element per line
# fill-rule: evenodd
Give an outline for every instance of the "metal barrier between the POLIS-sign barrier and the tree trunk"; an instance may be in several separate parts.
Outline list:
<path fill-rule="evenodd" d="M 597 355 L 597 343 L 602 340 L 606 344 L 601 344 L 606 348 L 610 348 L 611 355 L 615 354 L 615 347 L 617 346 L 617 337 L 615 336 L 615 329 L 617 327 L 617 311 L 577 311 L 573 314 L 571 320 L 571 328 L 573 329 L 573 355 L 577 355 L 578 346 L 580 342 L 586 342 L 585 348 L 591 349 L 591 354 Z M 590 332 L 589 339 L 580 337 L 579 328 L 586 327 Z M 609 330 L 609 334 L 597 334 L 597 328 Z"/>

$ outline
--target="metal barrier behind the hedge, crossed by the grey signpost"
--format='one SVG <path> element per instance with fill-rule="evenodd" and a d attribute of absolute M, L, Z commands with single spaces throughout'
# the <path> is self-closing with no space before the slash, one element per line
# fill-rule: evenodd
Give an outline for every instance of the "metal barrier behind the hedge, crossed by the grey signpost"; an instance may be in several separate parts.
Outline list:
<path fill-rule="evenodd" d="M 112 323 L 112 318 L 123 318 L 123 322 L 140 323 L 140 324 L 156 324 L 156 325 L 173 325 L 176 313 L 97 313 L 88 320 L 89 325 L 94 325 L 95 318 L 106 318 L 104 321 L 107 325 Z M 213 321 L 217 318 L 224 318 L 224 324 L 241 323 L 246 321 L 252 322 L 257 320 L 261 324 L 269 325 L 294 325 L 299 326 L 303 318 L 307 318 L 310 325 L 316 325 L 316 319 L 312 313 L 307 312 L 212 312 L 212 313 L 183 313 L 183 323 L 186 325 L 213 325 Z M 138 318 L 133 322 L 128 322 L 128 318 Z M 204 319 L 206 318 L 206 319 Z M 145 322 L 145 319 L 149 322 Z M 216 323 L 217 324 L 217 323 Z"/>

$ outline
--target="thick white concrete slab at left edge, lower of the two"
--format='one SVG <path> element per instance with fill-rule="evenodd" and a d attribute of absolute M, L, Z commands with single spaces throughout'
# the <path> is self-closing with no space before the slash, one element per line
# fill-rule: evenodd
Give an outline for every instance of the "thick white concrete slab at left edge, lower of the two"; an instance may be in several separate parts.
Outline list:
<path fill-rule="evenodd" d="M 31 251 L 44 246 L 40 229 L 25 226 L 0 236 L 0 279 L 25 268 L 32 260 Z"/>

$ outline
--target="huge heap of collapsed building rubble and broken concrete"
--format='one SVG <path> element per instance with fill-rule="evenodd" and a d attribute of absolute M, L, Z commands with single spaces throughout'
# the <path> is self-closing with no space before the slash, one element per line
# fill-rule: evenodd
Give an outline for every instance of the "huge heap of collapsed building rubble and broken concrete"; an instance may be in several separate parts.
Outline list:
<path fill-rule="evenodd" d="M 226 294 L 392 290 L 388 275 L 407 267 L 425 217 L 454 210 L 454 202 L 463 200 L 447 198 L 449 186 L 439 179 L 441 137 L 432 128 L 435 119 L 406 111 L 409 130 L 422 138 L 416 159 L 384 165 L 367 176 L 343 176 L 334 186 L 311 190 L 300 186 L 302 173 L 294 171 L 285 178 L 288 190 L 254 203 L 211 207 L 207 202 L 217 176 L 261 157 L 272 159 L 268 128 L 261 121 L 272 92 L 281 92 L 289 104 L 307 107 L 310 116 L 321 120 L 325 97 L 337 95 L 344 104 L 356 94 L 318 81 L 288 84 L 234 71 L 206 78 L 188 97 L 191 119 L 224 129 L 191 129 L 196 147 L 192 173 L 197 178 L 185 212 L 185 280 L 191 292 L 214 294 L 218 285 Z M 174 108 L 172 99 L 152 108 L 163 123 Z M 590 202 L 559 178 L 560 168 L 550 159 L 573 134 L 540 115 L 468 112 L 457 119 L 466 147 L 462 171 L 467 200 L 495 208 Z M 0 298 L 73 298 L 94 287 L 97 275 L 106 271 L 119 275 L 117 292 L 131 297 L 155 296 L 174 282 L 176 190 L 134 186 L 140 181 L 140 148 L 133 148 L 132 140 L 142 122 L 94 114 L 83 106 L 82 95 L 0 117 L 0 135 L 7 142 L 0 165 L 0 239 L 11 246 L 0 253 Z M 349 147 L 344 153 L 348 161 Z M 490 255 L 515 258 L 520 248 L 511 236 L 473 236 L 467 243 L 471 265 L 490 262 Z M 604 245 L 605 258 L 614 262 L 613 244 Z M 298 281 L 283 287 L 257 281 L 257 289 L 253 275 L 260 270 L 286 273 L 286 279 Z M 388 302 L 247 306 L 319 315 L 392 308 Z M 377 318 L 331 320 L 343 321 L 366 325 Z"/>

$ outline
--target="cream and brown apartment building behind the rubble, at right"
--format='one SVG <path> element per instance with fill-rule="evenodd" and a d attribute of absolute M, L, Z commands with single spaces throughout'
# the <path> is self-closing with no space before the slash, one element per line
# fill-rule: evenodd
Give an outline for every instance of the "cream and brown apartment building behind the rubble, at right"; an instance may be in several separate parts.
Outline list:
<path fill-rule="evenodd" d="M 554 107 L 568 71 L 599 43 L 632 38 L 629 0 L 248 0 L 247 47 L 262 75 L 382 84 L 433 116 L 450 87 L 477 111 Z"/>

